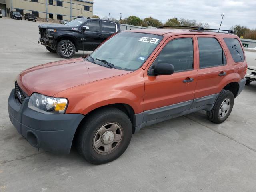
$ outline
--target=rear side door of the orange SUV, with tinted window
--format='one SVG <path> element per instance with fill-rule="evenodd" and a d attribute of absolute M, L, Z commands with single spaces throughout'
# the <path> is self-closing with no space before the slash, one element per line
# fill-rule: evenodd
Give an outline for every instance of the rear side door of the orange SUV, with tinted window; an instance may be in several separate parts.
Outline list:
<path fill-rule="evenodd" d="M 199 63 L 195 99 L 219 93 L 222 80 L 230 72 L 226 53 L 216 36 L 196 35 L 196 41 Z"/>

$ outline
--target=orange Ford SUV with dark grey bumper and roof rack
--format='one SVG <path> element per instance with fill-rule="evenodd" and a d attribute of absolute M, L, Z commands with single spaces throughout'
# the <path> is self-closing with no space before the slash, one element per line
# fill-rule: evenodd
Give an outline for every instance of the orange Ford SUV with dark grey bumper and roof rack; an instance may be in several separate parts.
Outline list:
<path fill-rule="evenodd" d="M 9 116 L 32 146 L 68 154 L 75 144 L 88 162 L 102 164 L 118 158 L 142 127 L 198 110 L 224 122 L 246 68 L 232 31 L 124 31 L 86 57 L 21 72 Z"/>

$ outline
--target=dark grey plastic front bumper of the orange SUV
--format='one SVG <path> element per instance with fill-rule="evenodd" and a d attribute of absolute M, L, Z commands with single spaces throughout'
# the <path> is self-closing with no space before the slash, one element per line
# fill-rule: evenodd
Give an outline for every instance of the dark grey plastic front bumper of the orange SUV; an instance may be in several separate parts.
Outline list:
<path fill-rule="evenodd" d="M 9 118 L 28 142 L 44 150 L 68 154 L 82 114 L 43 114 L 28 108 L 29 97 L 22 104 L 13 89 L 8 99 Z"/>

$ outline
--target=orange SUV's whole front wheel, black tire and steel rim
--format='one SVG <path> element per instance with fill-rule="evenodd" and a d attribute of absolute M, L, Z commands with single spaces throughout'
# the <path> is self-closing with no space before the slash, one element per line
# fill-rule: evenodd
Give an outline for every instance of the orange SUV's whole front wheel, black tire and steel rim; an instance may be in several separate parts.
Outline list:
<path fill-rule="evenodd" d="M 92 164 L 104 164 L 121 156 L 132 138 L 132 123 L 116 108 L 104 108 L 90 114 L 76 137 L 80 155 Z"/>

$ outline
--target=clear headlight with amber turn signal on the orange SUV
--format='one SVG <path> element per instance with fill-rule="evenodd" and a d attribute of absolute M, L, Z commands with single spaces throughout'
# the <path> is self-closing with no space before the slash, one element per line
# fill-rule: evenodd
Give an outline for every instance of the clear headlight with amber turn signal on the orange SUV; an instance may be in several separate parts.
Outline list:
<path fill-rule="evenodd" d="M 65 98 L 55 98 L 33 93 L 28 101 L 28 107 L 45 114 L 63 114 L 68 106 Z"/>

